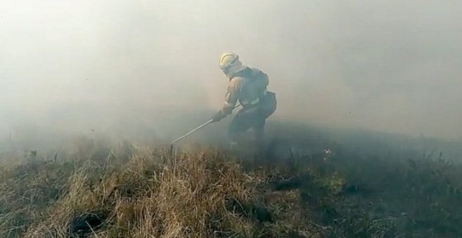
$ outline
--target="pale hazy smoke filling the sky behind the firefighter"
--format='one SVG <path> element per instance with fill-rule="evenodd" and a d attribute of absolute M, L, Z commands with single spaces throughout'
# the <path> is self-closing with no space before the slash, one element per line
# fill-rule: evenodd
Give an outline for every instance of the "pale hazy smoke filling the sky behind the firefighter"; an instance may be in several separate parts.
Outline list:
<path fill-rule="evenodd" d="M 218 56 L 233 50 L 268 73 L 274 118 L 461 138 L 460 9 L 451 0 L 3 0 L 0 133 L 219 109 Z"/>

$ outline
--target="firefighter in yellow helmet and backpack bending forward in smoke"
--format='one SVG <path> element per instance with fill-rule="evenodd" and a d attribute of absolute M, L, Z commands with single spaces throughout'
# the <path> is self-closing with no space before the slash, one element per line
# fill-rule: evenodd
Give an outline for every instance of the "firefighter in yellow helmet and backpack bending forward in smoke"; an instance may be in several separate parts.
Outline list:
<path fill-rule="evenodd" d="M 242 109 L 232 119 L 228 137 L 231 146 L 243 139 L 243 134 L 251 129 L 255 140 L 260 145 L 265 129 L 265 120 L 276 111 L 276 94 L 267 91 L 269 78 L 266 73 L 249 66 L 239 60 L 234 52 L 224 52 L 219 60 L 220 69 L 229 78 L 225 93 L 225 103 L 212 121 L 222 120 L 235 109 L 237 102 Z"/>

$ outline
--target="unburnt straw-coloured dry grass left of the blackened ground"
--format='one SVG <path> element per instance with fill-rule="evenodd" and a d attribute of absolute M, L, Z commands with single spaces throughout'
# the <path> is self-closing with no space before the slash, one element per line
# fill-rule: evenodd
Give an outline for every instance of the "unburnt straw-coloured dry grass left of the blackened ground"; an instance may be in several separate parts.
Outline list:
<path fill-rule="evenodd" d="M 265 207 L 267 176 L 244 172 L 223 153 L 86 145 L 71 160 L 0 167 L 0 237 L 283 237 L 297 230 L 288 214 Z"/>

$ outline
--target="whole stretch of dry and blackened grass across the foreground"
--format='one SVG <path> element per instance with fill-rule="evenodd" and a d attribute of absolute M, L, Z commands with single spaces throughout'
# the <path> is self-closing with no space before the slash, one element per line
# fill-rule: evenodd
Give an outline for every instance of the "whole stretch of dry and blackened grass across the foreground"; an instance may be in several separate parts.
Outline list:
<path fill-rule="evenodd" d="M 459 165 L 342 146 L 239 161 L 80 143 L 0 169 L 0 237 L 458 237 Z M 267 156 L 270 156 L 267 154 Z"/>

